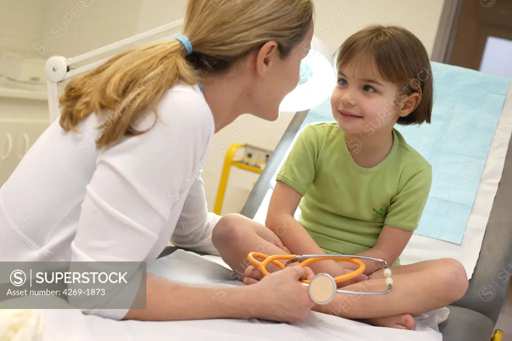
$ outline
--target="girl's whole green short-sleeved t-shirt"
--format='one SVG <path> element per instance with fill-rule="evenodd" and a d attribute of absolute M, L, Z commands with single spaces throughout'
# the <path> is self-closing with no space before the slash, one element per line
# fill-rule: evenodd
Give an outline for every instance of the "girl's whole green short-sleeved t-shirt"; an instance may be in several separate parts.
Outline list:
<path fill-rule="evenodd" d="M 303 196 L 297 221 L 324 252 L 368 250 L 384 225 L 418 227 L 432 166 L 397 130 L 393 133 L 391 152 L 373 168 L 353 161 L 336 122 L 310 123 L 297 136 L 276 180 Z"/>

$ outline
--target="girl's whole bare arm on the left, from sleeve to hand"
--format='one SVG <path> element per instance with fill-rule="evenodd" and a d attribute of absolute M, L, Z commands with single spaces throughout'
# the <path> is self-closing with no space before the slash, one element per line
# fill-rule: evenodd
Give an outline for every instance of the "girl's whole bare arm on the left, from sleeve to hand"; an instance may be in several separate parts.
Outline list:
<path fill-rule="evenodd" d="M 325 254 L 306 229 L 293 218 L 301 198 L 302 196 L 293 188 L 277 181 L 270 199 L 265 225 L 293 254 Z M 315 262 L 309 267 L 314 273 L 326 272 L 331 276 L 339 276 L 347 272 L 335 261 Z M 343 282 L 343 285 L 348 285 L 347 282 Z"/>

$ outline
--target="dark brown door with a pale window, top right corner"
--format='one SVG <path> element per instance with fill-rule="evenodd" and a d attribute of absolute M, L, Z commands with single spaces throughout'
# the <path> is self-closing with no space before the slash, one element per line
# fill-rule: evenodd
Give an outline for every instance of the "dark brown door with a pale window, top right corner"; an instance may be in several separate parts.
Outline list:
<path fill-rule="evenodd" d="M 487 50 L 486 50 L 487 48 Z M 482 67 L 484 51 L 487 63 L 498 54 L 512 50 L 512 1 L 510 0 L 461 0 L 453 45 L 447 61 L 450 65 L 486 72 Z M 502 76 L 509 76 L 512 55 L 503 62 Z M 489 59 L 490 58 L 490 59 Z M 505 60 L 501 58 L 502 60 Z M 506 68 L 506 65 L 508 68 Z M 500 66 L 501 68 L 501 66 Z M 493 72 L 496 73 L 496 72 Z"/>

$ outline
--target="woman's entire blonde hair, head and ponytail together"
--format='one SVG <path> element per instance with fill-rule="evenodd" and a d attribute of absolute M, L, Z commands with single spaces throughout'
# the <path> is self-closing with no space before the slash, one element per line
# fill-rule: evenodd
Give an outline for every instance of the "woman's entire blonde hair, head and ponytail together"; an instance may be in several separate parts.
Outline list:
<path fill-rule="evenodd" d="M 98 148 L 145 133 L 133 124 L 156 110 L 169 88 L 200 83 L 206 73 L 228 69 L 268 41 L 277 42 L 286 58 L 306 35 L 313 11 L 312 0 L 188 0 L 182 34 L 192 54 L 173 39 L 116 55 L 67 84 L 60 126 L 76 132 L 93 112 L 110 112 L 98 127 Z"/>

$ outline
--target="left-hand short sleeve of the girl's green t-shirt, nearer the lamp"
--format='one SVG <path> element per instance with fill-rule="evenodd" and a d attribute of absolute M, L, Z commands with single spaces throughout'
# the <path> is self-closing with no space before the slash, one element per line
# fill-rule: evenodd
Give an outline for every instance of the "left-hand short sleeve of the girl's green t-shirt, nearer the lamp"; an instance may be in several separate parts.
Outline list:
<path fill-rule="evenodd" d="M 302 196 L 306 195 L 315 177 L 317 156 L 318 138 L 315 126 L 308 124 L 297 136 L 276 180 L 287 184 Z"/>

